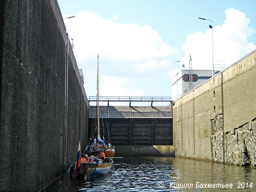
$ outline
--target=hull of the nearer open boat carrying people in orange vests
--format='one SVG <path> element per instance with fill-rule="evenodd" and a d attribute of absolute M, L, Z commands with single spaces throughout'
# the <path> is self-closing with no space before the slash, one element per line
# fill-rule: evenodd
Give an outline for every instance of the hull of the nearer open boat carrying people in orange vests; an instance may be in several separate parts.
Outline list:
<path fill-rule="evenodd" d="M 84 163 L 81 164 L 81 173 L 84 175 L 84 178 L 92 178 L 100 175 L 107 174 L 113 164 L 113 160 L 106 158 L 105 164 L 96 164 L 96 163 Z"/>

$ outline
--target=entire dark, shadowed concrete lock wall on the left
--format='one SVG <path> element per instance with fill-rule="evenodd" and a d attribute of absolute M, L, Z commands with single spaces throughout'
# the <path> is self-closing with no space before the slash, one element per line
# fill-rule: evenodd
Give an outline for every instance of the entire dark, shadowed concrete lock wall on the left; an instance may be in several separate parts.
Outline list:
<path fill-rule="evenodd" d="M 1 1 L 0 44 L 0 191 L 39 191 L 87 143 L 89 104 L 57 2 Z"/>

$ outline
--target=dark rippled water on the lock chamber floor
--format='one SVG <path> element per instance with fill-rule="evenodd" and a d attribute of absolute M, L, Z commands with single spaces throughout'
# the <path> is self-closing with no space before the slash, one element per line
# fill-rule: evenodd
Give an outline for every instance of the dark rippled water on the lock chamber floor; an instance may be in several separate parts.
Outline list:
<path fill-rule="evenodd" d="M 43 191 L 256 191 L 256 169 L 252 167 L 173 157 L 115 159 L 107 175 L 88 180 L 76 180 L 75 178 L 74 173 L 73 177 L 65 174 Z M 202 188 L 196 188 L 196 182 L 199 182 L 199 186 L 203 184 Z M 238 182 L 241 183 L 240 188 L 237 188 Z M 251 183 L 252 188 L 249 186 Z M 190 184 L 193 184 L 193 187 Z M 212 185 L 209 188 L 208 184 L 223 184 L 223 186 L 232 184 L 232 188 L 213 188 Z M 183 188 L 177 189 L 178 186 L 183 186 Z"/>

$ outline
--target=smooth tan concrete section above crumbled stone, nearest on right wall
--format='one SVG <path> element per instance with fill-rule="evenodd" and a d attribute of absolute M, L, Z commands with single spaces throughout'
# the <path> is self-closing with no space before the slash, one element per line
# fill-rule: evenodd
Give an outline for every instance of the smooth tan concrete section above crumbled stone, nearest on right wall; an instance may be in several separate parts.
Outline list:
<path fill-rule="evenodd" d="M 256 52 L 223 71 L 224 132 L 256 117 Z"/>

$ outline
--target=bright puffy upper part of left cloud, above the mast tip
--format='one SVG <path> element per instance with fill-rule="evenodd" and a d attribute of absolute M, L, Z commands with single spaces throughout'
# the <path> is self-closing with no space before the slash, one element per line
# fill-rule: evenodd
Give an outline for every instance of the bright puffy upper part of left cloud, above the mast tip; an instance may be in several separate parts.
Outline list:
<path fill-rule="evenodd" d="M 75 56 L 79 62 L 99 53 L 101 58 L 120 64 L 130 61 L 139 67 L 148 60 L 162 62 L 177 53 L 148 25 L 115 23 L 93 12 L 79 12 L 72 21 L 65 20 L 65 24 L 70 38 L 76 42 Z"/>

